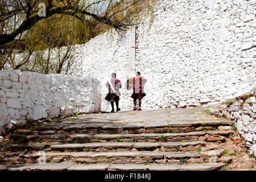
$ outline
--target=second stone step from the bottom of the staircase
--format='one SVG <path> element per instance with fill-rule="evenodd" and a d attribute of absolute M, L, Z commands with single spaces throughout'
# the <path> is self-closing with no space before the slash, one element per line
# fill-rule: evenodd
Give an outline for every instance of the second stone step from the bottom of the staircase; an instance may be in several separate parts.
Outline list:
<path fill-rule="evenodd" d="M 204 152 L 150 152 L 150 151 L 120 151 L 120 152 L 46 152 L 46 162 L 76 162 L 76 163 L 109 163 L 109 164 L 143 164 L 151 163 L 204 163 L 214 157 L 220 160 L 224 150 Z M 24 163 L 37 163 L 42 153 L 20 154 Z"/>

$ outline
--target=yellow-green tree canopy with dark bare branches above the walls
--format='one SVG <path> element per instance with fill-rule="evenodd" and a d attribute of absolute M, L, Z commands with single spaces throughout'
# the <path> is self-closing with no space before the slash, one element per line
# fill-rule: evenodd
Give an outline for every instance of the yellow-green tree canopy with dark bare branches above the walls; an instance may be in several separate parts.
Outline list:
<path fill-rule="evenodd" d="M 68 60 L 74 44 L 86 43 L 109 28 L 127 30 L 151 3 L 152 0 L 0 0 L 0 70 L 62 73 L 64 65 L 71 64 Z M 60 53 L 63 46 L 67 49 Z M 59 57 L 59 63 L 52 63 L 51 52 L 56 48 L 64 57 Z M 48 50 L 47 58 L 42 55 L 43 50 Z M 17 59 L 19 52 L 23 57 Z M 36 55 L 34 60 L 32 53 Z"/>

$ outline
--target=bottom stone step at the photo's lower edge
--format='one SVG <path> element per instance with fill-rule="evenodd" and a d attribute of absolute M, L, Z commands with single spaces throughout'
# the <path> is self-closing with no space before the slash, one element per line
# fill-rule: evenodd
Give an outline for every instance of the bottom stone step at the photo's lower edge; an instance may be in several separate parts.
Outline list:
<path fill-rule="evenodd" d="M 225 166 L 224 163 L 209 164 L 72 164 L 72 163 L 47 163 L 40 164 L 19 164 L 1 166 L 0 171 L 212 171 Z"/>

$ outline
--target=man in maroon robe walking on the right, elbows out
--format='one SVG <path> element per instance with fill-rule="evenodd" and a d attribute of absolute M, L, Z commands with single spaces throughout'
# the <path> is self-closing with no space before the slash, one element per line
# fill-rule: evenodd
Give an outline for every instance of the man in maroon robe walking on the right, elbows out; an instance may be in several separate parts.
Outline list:
<path fill-rule="evenodd" d="M 141 110 L 142 98 L 146 96 L 146 93 L 144 93 L 144 86 L 146 82 L 147 80 L 141 77 L 140 72 L 136 73 L 136 77 L 129 78 L 127 80 L 127 85 L 133 86 L 133 94 L 131 95 L 131 98 L 133 98 L 133 103 L 134 103 L 133 110 L 137 110 L 137 109 Z M 138 108 L 137 108 L 137 100 L 139 100 Z"/>

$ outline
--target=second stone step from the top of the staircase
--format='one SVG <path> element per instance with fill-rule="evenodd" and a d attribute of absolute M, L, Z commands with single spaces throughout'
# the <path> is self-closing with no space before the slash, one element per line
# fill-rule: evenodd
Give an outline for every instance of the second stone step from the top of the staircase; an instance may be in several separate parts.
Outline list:
<path fill-rule="evenodd" d="M 22 135 L 12 134 L 10 139 L 23 140 L 23 142 L 177 142 L 177 141 L 195 141 L 205 134 L 218 137 L 224 135 L 225 137 L 232 134 L 233 131 L 193 131 L 189 133 L 143 133 L 143 134 L 56 134 L 56 135 Z M 225 138 L 212 138 L 209 141 L 224 140 Z"/>

